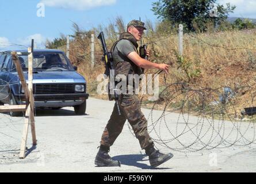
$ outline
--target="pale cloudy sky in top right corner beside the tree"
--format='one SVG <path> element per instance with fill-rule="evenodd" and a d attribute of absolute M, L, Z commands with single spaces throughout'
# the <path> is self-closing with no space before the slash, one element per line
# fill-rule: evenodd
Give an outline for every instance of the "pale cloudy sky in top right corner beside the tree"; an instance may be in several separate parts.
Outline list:
<path fill-rule="evenodd" d="M 226 5 L 226 3 L 231 3 L 231 5 L 235 5 L 236 8 L 234 10 L 234 14 L 232 17 L 250 17 L 256 18 L 256 1 L 255 0 L 218 0 L 218 3 L 221 5 Z"/>

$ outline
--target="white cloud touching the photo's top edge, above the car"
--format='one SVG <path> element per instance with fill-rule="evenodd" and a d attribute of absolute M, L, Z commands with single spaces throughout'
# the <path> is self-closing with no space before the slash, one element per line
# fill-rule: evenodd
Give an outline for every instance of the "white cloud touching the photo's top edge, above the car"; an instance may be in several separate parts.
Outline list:
<path fill-rule="evenodd" d="M 112 5 L 116 0 L 41 0 L 45 6 L 64 9 L 87 10 L 97 6 Z"/>

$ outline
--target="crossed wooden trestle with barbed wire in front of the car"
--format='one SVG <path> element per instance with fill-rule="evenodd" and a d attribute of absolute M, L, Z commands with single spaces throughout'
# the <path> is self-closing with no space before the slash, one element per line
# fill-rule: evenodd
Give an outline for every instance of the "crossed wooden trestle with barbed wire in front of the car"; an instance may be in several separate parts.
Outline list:
<path fill-rule="evenodd" d="M 34 108 L 35 108 L 34 101 L 35 100 L 34 100 L 34 96 L 33 96 L 33 85 L 32 85 L 32 80 L 33 80 L 33 73 L 32 73 L 32 71 L 33 71 L 33 67 L 32 67 L 33 53 L 32 53 L 32 49 L 30 47 L 28 48 L 28 85 L 26 84 L 26 79 L 24 77 L 24 72 L 22 70 L 21 63 L 20 63 L 20 60 L 18 59 L 18 56 L 17 56 L 16 52 L 12 52 L 12 60 L 15 64 L 15 66 L 16 66 L 16 70 L 17 70 L 17 74 L 18 74 L 18 76 L 15 76 L 15 77 L 19 78 L 19 82 L 21 83 L 21 87 L 24 90 L 26 105 L 17 105 L 16 103 L 14 103 L 15 99 L 13 99 L 13 101 L 12 101 L 12 98 L 14 98 L 14 96 L 12 94 L 12 87 L 11 87 L 12 85 L 14 85 L 12 79 L 10 79 L 10 82 L 6 82 L 4 80 L 1 80 L 0 81 L 1 82 L 1 85 L 0 85 L 1 90 L 9 91 L 9 93 L 7 93 L 5 97 L 3 95 L 2 98 L 4 98 L 4 99 L 9 98 L 10 99 L 10 104 L 9 104 L 9 106 L 1 105 L 0 106 L 0 112 L 10 112 L 10 113 L 14 113 L 14 112 L 22 112 L 23 113 L 23 112 L 25 112 L 22 139 L 21 139 L 21 148 L 20 148 L 20 158 L 24 159 L 25 156 L 26 156 L 25 155 L 26 154 L 26 141 L 28 139 L 29 125 L 30 125 L 30 128 L 31 128 L 33 145 L 35 146 L 37 144 L 36 132 L 35 132 L 35 118 L 34 118 Z M 7 73 L 7 75 L 10 75 L 10 74 Z M 3 121 L 3 122 L 1 122 L 0 125 L 3 125 L 3 128 L 5 128 L 6 122 Z M 14 124 L 12 124 L 12 125 L 14 125 Z M 5 135 L 8 138 L 12 138 L 14 140 L 17 139 L 16 137 L 10 136 L 9 133 L 0 132 L 0 134 Z M 4 141 L 1 140 L 1 142 L 3 144 L 5 144 Z"/>

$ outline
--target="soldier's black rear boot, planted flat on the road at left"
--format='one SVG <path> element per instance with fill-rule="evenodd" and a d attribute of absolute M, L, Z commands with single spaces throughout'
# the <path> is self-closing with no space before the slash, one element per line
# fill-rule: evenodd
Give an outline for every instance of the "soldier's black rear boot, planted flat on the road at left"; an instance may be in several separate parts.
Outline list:
<path fill-rule="evenodd" d="M 109 147 L 106 147 L 104 145 L 100 146 L 100 150 L 98 151 L 98 154 L 95 158 L 95 165 L 99 167 L 120 167 L 121 163 L 118 160 L 113 160 L 109 154 Z"/>

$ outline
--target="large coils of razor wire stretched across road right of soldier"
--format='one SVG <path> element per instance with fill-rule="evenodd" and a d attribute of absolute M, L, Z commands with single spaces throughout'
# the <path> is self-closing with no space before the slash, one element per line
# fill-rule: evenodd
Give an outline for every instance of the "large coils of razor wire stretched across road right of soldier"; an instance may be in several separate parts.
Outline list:
<path fill-rule="evenodd" d="M 256 106 L 255 94 L 250 86 L 193 89 L 184 83 L 166 85 L 148 114 L 148 132 L 154 143 L 184 153 L 255 144 L 255 116 L 243 112 Z"/>

